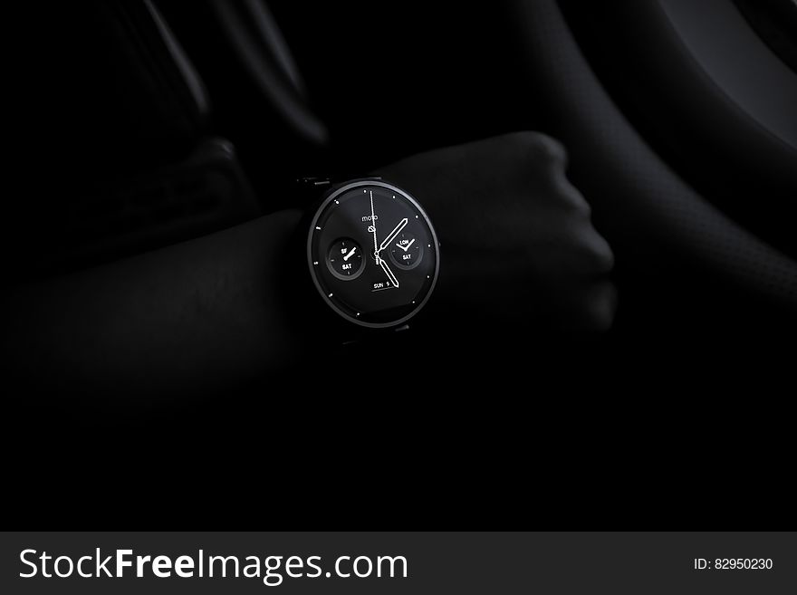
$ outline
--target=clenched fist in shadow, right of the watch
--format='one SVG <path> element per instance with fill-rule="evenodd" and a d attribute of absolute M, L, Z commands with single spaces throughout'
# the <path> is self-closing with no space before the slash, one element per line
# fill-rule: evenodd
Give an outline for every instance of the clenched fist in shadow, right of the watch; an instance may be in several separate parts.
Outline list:
<path fill-rule="evenodd" d="M 427 209 L 441 243 L 441 315 L 603 331 L 615 310 L 609 245 L 565 177 L 562 145 L 535 132 L 438 149 L 379 171 Z M 461 320 L 461 319 L 460 319 Z"/>

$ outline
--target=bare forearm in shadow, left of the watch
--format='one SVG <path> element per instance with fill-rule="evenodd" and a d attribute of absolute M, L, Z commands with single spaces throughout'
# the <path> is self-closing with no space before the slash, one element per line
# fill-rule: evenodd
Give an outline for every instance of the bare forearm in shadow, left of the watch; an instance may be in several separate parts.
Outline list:
<path fill-rule="evenodd" d="M 200 392 L 274 368 L 298 349 L 279 293 L 298 211 L 19 288 L 5 352 L 48 389 Z"/>

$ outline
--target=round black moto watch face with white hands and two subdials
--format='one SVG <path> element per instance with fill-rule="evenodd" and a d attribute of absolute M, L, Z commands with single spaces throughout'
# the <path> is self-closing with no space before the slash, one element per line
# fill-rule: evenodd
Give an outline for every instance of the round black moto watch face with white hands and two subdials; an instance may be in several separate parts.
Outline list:
<path fill-rule="evenodd" d="M 437 282 L 437 235 L 420 205 L 385 182 L 336 189 L 312 219 L 312 280 L 342 317 L 367 327 L 408 321 Z"/>

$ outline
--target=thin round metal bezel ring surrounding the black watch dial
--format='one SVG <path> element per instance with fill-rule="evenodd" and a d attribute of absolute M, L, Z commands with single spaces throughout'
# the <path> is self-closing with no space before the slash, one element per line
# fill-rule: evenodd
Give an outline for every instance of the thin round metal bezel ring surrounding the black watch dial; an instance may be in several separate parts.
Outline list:
<path fill-rule="evenodd" d="M 407 314 L 405 314 L 399 320 L 396 321 L 388 321 L 388 322 L 361 321 L 355 317 L 350 316 L 346 312 L 342 312 L 341 309 L 335 304 L 335 302 L 332 302 L 332 300 L 329 298 L 327 293 L 322 288 L 322 285 L 321 283 L 319 283 L 318 280 L 318 275 L 315 272 L 315 267 L 312 264 L 313 263 L 312 238 L 313 238 L 313 233 L 316 231 L 315 227 L 318 224 L 318 220 L 321 217 L 322 213 L 324 212 L 326 207 L 329 206 L 329 204 L 333 200 L 335 200 L 335 198 L 340 197 L 341 194 L 348 192 L 352 188 L 363 187 L 363 186 L 370 186 L 370 187 L 377 186 L 377 187 L 387 188 L 391 192 L 399 193 L 399 195 L 406 198 L 412 206 L 415 206 L 415 208 L 418 209 L 418 213 L 420 214 L 420 216 L 424 218 L 424 221 L 426 222 L 429 228 L 429 232 L 432 235 L 432 241 L 434 242 L 435 246 L 434 250 L 435 272 L 432 277 L 431 283 L 429 285 L 427 294 L 424 296 L 422 300 L 418 301 L 418 304 L 416 304 L 416 307 L 411 312 L 408 312 Z M 432 225 L 432 222 L 429 219 L 429 216 L 427 215 L 427 212 L 424 209 L 424 207 L 421 206 L 420 203 L 418 203 L 418 200 L 416 200 L 415 197 L 410 195 L 407 192 L 407 190 L 394 186 L 393 184 L 389 184 L 389 182 L 376 180 L 376 179 L 352 180 L 350 182 L 344 183 L 341 186 L 334 187 L 331 190 L 328 190 L 328 194 L 326 194 L 325 197 L 322 199 L 321 205 L 319 205 L 315 209 L 315 213 L 312 216 L 310 227 L 307 230 L 306 256 L 307 256 L 307 266 L 309 269 L 310 277 L 312 279 L 312 284 L 315 285 L 316 291 L 322 297 L 322 300 L 326 302 L 326 304 L 330 307 L 331 311 L 337 313 L 345 321 L 348 321 L 352 324 L 368 329 L 390 329 L 393 327 L 401 326 L 402 324 L 407 323 L 410 319 L 414 318 L 418 314 L 418 312 L 420 312 L 423 309 L 423 307 L 427 304 L 429 298 L 432 296 L 432 293 L 435 292 L 435 288 L 437 287 L 437 276 L 440 273 L 440 243 L 437 240 L 437 232 L 435 231 L 435 226 Z"/>

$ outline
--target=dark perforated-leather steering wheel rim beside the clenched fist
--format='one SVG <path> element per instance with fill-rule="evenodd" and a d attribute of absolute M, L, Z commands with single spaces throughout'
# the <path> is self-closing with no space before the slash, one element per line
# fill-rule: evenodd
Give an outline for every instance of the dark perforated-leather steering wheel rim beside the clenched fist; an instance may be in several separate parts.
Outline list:
<path fill-rule="evenodd" d="M 555 0 L 507 3 L 523 76 L 552 99 L 554 134 L 619 262 L 656 274 L 672 263 L 706 283 L 797 315 L 797 262 L 698 194 L 651 149 L 581 53 Z"/>

